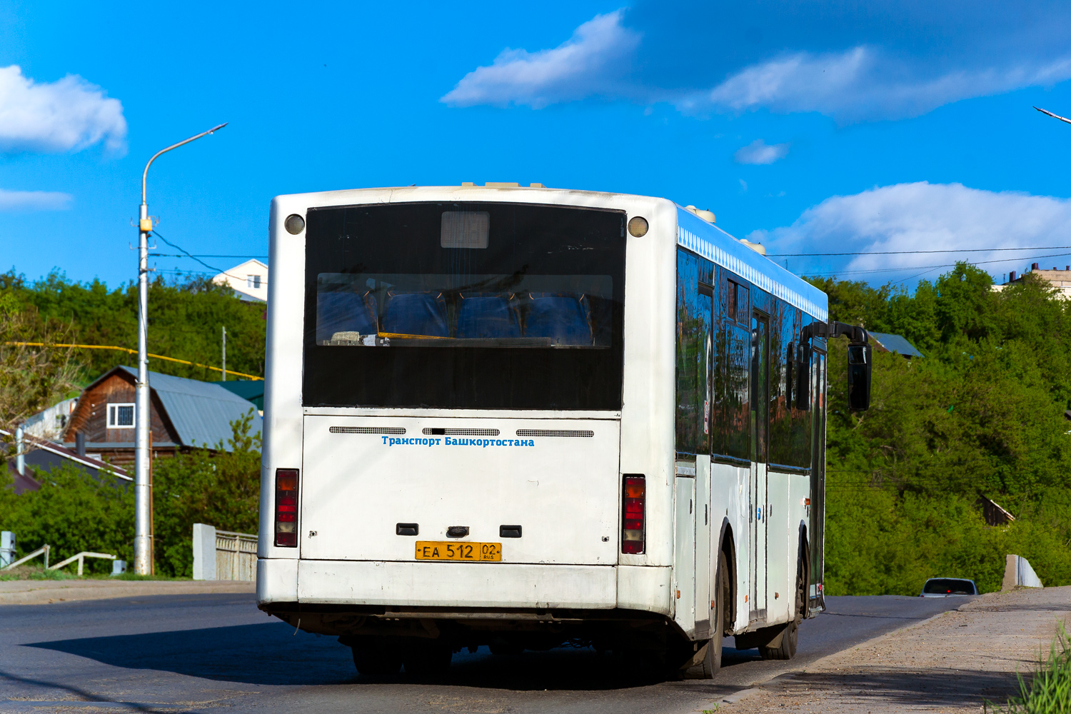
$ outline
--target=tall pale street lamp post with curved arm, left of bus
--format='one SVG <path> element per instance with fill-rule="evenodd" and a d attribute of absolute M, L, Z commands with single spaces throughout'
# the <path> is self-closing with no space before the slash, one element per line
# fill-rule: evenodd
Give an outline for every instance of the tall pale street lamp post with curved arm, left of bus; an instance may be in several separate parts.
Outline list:
<path fill-rule="evenodd" d="M 149 575 L 152 568 L 152 536 L 149 532 L 152 522 L 150 513 L 151 484 L 149 482 L 149 233 L 152 232 L 152 219 L 149 217 L 149 207 L 146 203 L 145 184 L 149 176 L 149 166 L 156 157 L 171 149 L 178 149 L 183 143 L 190 143 L 202 136 L 217 132 L 227 123 L 213 126 L 207 132 L 192 136 L 185 141 L 179 141 L 152 155 L 141 172 L 141 206 L 138 207 L 138 275 L 137 275 L 137 382 L 134 385 L 134 572 L 138 575 Z"/>

